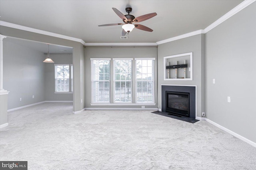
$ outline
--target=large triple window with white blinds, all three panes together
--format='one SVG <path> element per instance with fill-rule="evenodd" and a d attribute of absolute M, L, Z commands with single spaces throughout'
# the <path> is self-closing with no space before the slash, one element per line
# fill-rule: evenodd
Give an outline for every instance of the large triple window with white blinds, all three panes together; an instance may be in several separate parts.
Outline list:
<path fill-rule="evenodd" d="M 91 58 L 91 105 L 155 105 L 154 65 L 155 58 Z"/>

